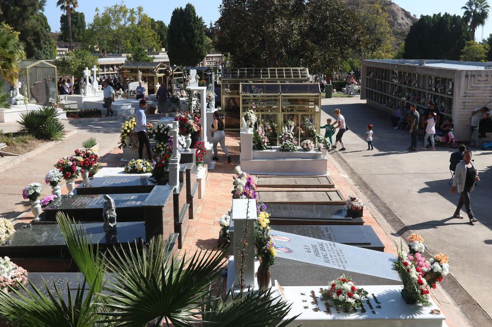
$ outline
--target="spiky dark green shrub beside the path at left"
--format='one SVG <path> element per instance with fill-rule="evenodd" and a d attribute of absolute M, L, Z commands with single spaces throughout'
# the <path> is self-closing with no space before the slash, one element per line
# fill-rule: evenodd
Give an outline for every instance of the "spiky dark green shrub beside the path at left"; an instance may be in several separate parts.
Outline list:
<path fill-rule="evenodd" d="M 58 119 L 57 107 L 43 106 L 40 110 L 22 113 L 18 121 L 21 132 L 30 134 L 37 139 L 60 141 L 65 134 L 65 126 Z"/>

